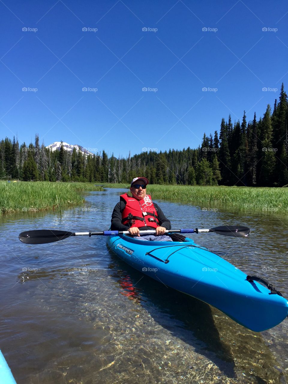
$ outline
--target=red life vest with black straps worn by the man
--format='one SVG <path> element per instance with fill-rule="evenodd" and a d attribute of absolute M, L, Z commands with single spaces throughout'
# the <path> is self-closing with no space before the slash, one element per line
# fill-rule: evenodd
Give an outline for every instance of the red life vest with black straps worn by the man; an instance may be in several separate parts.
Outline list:
<path fill-rule="evenodd" d="M 122 224 L 129 227 L 159 227 L 157 210 L 152 203 L 151 196 L 146 195 L 144 199 L 137 200 L 126 193 L 120 196 L 120 201 L 126 202 L 122 212 Z"/>

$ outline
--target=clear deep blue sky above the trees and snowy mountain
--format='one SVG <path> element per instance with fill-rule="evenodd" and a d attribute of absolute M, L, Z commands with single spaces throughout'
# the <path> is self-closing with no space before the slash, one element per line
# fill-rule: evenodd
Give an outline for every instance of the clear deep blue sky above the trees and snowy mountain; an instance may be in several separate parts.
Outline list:
<path fill-rule="evenodd" d="M 3 0 L 0 15 L 0 137 L 20 143 L 194 148 L 288 88 L 286 1 Z"/>

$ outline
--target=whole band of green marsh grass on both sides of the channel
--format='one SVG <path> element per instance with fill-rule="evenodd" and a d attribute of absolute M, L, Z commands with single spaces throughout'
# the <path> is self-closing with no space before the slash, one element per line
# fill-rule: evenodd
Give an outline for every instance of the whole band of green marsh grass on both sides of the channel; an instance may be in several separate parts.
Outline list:
<path fill-rule="evenodd" d="M 129 184 L 52 183 L 0 181 L 0 214 L 8 212 L 61 210 L 83 204 L 81 192 L 105 188 L 121 188 Z M 127 191 L 128 192 L 128 191 Z M 237 207 L 240 210 L 288 214 L 287 188 L 200 187 L 185 185 L 149 184 L 147 193 L 152 198 L 184 203 L 204 204 L 206 207 Z"/>

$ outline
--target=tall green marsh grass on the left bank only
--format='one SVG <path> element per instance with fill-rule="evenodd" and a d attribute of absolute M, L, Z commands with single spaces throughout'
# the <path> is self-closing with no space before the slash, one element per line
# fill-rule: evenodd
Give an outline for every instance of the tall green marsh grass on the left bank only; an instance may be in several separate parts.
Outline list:
<path fill-rule="evenodd" d="M 94 183 L 0 181 L 0 215 L 9 212 L 61 210 L 65 206 L 83 204 L 81 192 L 99 191 Z"/>

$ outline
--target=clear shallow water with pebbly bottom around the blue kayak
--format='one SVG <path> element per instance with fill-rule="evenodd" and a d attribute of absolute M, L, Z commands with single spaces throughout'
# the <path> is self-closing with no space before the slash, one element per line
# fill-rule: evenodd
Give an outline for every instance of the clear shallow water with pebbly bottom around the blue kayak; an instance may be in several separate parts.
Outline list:
<path fill-rule="evenodd" d="M 287 382 L 287 320 L 261 334 L 249 331 L 133 270 L 104 237 L 35 246 L 18 240 L 31 229 L 106 229 L 124 191 L 92 192 L 84 208 L 62 214 L 0 218 L 0 347 L 17 382 Z M 190 236 L 288 297 L 287 217 L 156 202 L 174 228 L 250 227 L 244 239 Z"/>

